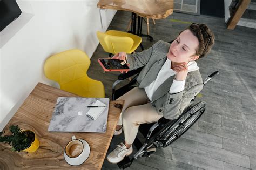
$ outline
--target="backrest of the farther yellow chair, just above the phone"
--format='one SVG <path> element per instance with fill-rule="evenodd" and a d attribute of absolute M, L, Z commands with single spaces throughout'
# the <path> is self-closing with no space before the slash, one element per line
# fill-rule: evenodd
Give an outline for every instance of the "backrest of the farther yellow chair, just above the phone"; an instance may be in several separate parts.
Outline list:
<path fill-rule="evenodd" d="M 97 31 L 97 37 L 104 51 L 112 54 L 116 54 L 122 51 L 130 53 L 134 43 L 133 39 L 130 37 L 107 35 L 107 33 L 100 31 Z"/>

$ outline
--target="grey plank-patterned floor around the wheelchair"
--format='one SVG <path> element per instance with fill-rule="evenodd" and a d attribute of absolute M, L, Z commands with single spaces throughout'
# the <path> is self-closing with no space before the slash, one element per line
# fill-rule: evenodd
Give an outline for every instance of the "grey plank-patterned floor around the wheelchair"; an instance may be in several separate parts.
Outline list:
<path fill-rule="evenodd" d="M 199 121 L 171 146 L 158 148 L 151 157 L 134 161 L 128 169 L 256 169 L 255 29 L 237 26 L 232 31 L 226 29 L 223 18 L 173 13 L 157 20 L 155 26 L 150 25 L 154 40 L 143 38 L 145 49 L 160 39 L 174 39 L 188 26 L 171 19 L 210 26 L 215 33 L 215 46 L 198 65 L 203 79 L 215 70 L 220 75 L 201 91 L 203 97 L 198 100 L 205 100 L 207 106 Z M 109 29 L 125 31 L 129 20 L 130 12 L 118 11 Z M 146 33 L 146 25 L 143 32 Z M 91 58 L 89 76 L 102 81 L 106 97 L 111 98 L 111 86 L 118 73 L 103 73 L 97 62 L 107 55 L 99 45 Z M 110 151 L 123 140 L 123 134 L 113 138 Z M 103 169 L 118 166 L 105 160 Z"/>

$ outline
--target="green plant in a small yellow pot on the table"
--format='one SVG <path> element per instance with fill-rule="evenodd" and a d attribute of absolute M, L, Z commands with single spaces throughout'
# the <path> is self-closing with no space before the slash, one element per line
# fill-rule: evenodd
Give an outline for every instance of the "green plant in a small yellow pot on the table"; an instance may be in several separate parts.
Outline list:
<path fill-rule="evenodd" d="M 10 126 L 11 135 L 2 136 L 0 132 L 0 142 L 8 143 L 14 152 L 35 152 L 39 147 L 39 140 L 36 134 L 30 130 L 21 130 L 18 126 Z"/>

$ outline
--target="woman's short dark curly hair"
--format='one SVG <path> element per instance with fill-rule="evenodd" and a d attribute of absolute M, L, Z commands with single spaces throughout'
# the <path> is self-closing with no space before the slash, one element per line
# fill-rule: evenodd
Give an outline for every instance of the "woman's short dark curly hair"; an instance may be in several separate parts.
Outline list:
<path fill-rule="evenodd" d="M 211 51 L 214 45 L 215 36 L 213 32 L 205 24 L 193 23 L 188 26 L 187 29 L 189 29 L 193 33 L 193 35 L 198 38 L 199 41 L 199 46 L 196 49 L 195 55 L 199 56 L 199 58 L 205 57 L 207 53 Z"/>

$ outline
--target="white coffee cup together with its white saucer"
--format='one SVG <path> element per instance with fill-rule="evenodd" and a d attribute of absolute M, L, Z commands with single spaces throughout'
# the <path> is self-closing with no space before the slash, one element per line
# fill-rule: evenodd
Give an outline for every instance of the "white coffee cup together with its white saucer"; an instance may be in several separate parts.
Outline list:
<path fill-rule="evenodd" d="M 70 165 L 80 165 L 87 160 L 90 155 L 90 146 L 83 139 L 76 139 L 72 136 L 72 140 L 65 147 L 64 159 Z"/>

